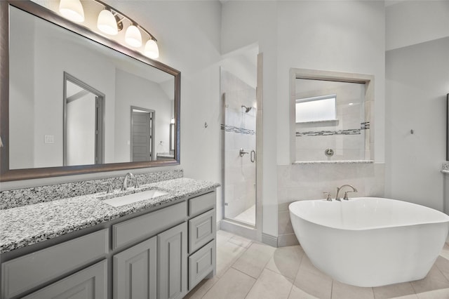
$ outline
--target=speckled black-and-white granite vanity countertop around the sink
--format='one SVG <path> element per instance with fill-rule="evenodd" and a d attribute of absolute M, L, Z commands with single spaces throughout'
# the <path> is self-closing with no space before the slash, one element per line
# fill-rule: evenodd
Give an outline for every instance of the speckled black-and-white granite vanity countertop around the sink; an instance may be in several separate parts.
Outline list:
<path fill-rule="evenodd" d="M 12 251 L 69 232 L 98 225 L 124 215 L 145 211 L 163 204 L 182 201 L 220 184 L 204 180 L 176 178 L 142 185 L 168 194 L 114 208 L 98 197 L 105 192 L 30 204 L 0 211 L 0 253 Z M 133 193 L 130 189 L 127 193 Z"/>

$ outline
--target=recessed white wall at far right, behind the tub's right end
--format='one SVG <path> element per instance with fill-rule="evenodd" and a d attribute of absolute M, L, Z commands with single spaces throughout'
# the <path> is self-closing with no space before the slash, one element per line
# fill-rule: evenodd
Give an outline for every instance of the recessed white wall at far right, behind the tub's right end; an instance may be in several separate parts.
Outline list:
<path fill-rule="evenodd" d="M 387 197 L 440 211 L 448 53 L 446 37 L 387 51 L 386 60 Z"/>

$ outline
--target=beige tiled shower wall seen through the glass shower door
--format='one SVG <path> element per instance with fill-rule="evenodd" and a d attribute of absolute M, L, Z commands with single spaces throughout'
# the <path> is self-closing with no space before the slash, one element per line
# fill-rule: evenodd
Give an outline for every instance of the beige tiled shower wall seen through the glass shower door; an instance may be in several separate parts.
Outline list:
<path fill-rule="evenodd" d="M 225 217 L 234 218 L 255 204 L 255 163 L 250 152 L 255 151 L 255 88 L 233 74 L 222 71 L 222 92 L 225 93 Z M 246 107 L 252 107 L 245 112 Z M 240 157 L 243 149 L 248 154 Z"/>

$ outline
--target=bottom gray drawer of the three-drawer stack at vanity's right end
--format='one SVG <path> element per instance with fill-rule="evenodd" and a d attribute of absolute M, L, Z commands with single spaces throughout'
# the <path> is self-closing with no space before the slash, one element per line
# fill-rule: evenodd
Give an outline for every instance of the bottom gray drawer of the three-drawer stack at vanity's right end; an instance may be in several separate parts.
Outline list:
<path fill-rule="evenodd" d="M 215 269 L 215 240 L 189 256 L 189 290 Z"/>

